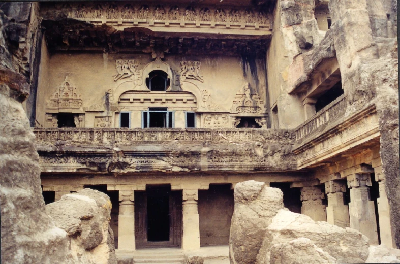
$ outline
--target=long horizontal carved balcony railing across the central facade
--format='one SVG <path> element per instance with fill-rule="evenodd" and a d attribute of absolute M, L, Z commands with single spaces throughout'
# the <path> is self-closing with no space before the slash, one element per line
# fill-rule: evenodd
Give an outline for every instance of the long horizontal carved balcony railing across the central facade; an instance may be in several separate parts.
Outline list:
<path fill-rule="evenodd" d="M 76 143 L 126 143 L 165 141 L 286 141 L 291 130 L 207 128 L 33 128 L 38 144 L 67 141 Z"/>

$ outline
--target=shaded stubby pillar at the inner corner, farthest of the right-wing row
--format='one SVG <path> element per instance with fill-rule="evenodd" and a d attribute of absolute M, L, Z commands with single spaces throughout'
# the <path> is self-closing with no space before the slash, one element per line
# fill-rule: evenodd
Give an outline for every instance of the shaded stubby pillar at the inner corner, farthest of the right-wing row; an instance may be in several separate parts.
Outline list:
<path fill-rule="evenodd" d="M 302 187 L 301 213 L 310 216 L 314 221 L 326 221 L 326 205 L 323 203 L 325 194 L 322 186 Z"/>

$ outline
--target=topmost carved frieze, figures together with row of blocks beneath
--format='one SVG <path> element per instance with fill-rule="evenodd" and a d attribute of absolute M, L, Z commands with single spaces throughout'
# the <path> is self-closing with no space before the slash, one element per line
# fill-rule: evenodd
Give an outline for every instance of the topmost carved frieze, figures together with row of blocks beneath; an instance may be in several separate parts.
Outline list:
<path fill-rule="evenodd" d="M 110 23 L 122 20 L 122 23 L 134 25 L 191 26 L 214 28 L 216 24 L 225 25 L 225 29 L 241 28 L 252 30 L 270 30 L 271 23 L 264 12 L 255 13 L 251 9 L 241 10 L 237 8 L 212 7 L 212 6 L 180 6 L 172 4 L 163 6 L 160 4 L 126 4 L 126 3 L 93 3 L 71 4 L 65 6 L 71 18 L 92 20 Z M 166 11 L 167 10 L 167 11 Z M 150 23 L 149 23 L 150 22 Z M 135 24 L 136 23 L 136 24 Z"/>

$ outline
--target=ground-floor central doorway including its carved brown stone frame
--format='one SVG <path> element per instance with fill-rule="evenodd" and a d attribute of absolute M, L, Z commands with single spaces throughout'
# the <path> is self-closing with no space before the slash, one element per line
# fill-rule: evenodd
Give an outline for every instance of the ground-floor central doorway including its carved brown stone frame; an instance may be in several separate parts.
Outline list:
<path fill-rule="evenodd" d="M 180 247 L 182 192 L 171 191 L 171 185 L 135 192 L 135 237 L 136 248 Z"/>

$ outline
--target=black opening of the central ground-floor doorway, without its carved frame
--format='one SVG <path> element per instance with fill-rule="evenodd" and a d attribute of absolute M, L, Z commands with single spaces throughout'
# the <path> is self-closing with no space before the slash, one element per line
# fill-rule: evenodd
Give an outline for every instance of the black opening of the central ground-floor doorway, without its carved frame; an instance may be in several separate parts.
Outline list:
<path fill-rule="evenodd" d="M 169 189 L 147 188 L 147 241 L 169 241 Z"/>

